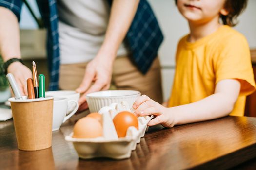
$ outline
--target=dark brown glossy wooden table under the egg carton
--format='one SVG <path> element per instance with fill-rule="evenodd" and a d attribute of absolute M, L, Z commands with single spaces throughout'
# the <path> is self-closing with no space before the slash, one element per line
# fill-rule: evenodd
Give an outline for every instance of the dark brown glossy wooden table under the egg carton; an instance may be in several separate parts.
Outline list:
<path fill-rule="evenodd" d="M 124 160 L 78 158 L 64 136 L 73 126 L 53 132 L 52 147 L 26 152 L 17 149 L 13 121 L 0 122 L 0 169 L 2 170 L 178 170 L 255 168 L 256 118 L 225 117 L 166 129 L 152 127 L 131 158 Z M 253 167 L 254 166 L 254 167 Z M 237 167 L 236 167 L 237 168 Z"/>

